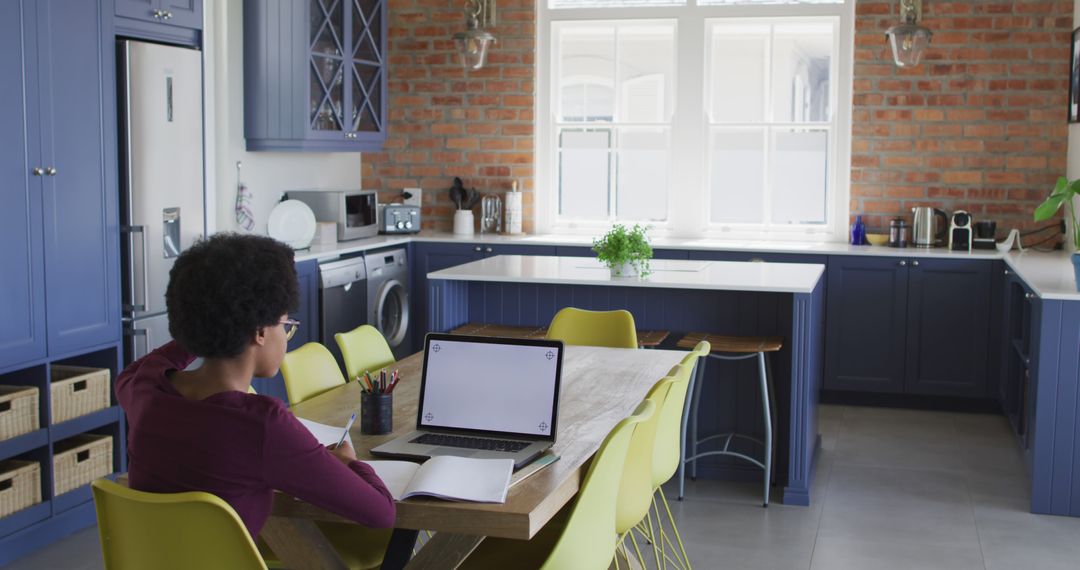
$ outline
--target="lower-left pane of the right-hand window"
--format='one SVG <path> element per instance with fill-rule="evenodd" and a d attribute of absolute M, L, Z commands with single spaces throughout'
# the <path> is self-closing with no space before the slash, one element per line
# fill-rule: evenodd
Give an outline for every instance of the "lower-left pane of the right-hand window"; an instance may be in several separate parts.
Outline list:
<path fill-rule="evenodd" d="M 711 220 L 764 221 L 765 128 L 714 130 L 710 147 Z"/>

